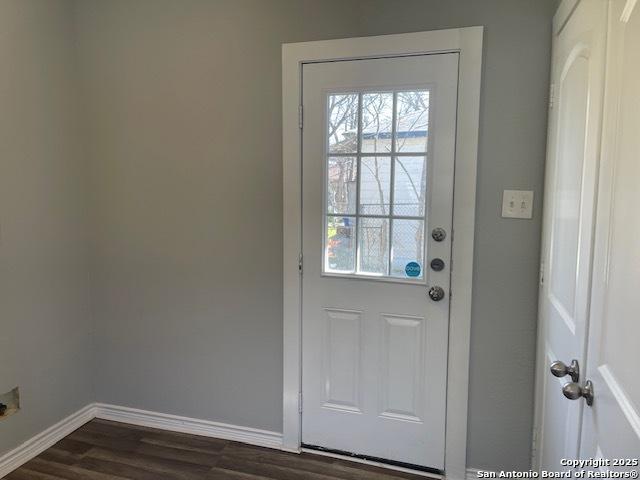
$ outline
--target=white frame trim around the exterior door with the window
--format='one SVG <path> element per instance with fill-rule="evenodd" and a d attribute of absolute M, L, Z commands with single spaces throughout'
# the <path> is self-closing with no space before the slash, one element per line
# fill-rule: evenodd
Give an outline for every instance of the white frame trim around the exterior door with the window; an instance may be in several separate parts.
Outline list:
<path fill-rule="evenodd" d="M 283 448 L 299 452 L 302 438 L 302 65 L 429 53 L 460 54 L 453 207 L 451 310 L 447 377 L 445 475 L 466 476 L 469 349 L 476 205 L 476 168 L 484 27 L 359 37 L 282 46 L 283 161 Z M 453 238 L 453 237 L 452 237 Z"/>

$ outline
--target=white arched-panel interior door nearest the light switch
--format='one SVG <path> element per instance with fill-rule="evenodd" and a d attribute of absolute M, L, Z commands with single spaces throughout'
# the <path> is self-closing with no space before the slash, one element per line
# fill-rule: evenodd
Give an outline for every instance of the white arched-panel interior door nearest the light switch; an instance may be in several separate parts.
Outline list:
<path fill-rule="evenodd" d="M 582 0 L 566 8 L 575 3 L 565 1 L 554 19 L 537 389 L 536 457 L 546 470 L 558 470 L 561 459 L 579 452 L 582 402 L 565 398 L 563 386 L 572 379 L 552 375 L 550 366 L 557 360 L 586 366 L 601 138 L 606 2 Z"/>

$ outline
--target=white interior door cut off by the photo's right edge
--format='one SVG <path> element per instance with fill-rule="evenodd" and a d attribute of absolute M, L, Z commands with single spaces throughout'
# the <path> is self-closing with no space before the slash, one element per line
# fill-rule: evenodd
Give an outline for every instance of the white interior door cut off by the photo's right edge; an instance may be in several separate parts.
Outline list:
<path fill-rule="evenodd" d="M 593 384 L 594 401 L 585 409 L 581 456 L 611 460 L 610 465 L 602 467 L 604 470 L 637 474 L 640 458 L 640 6 L 635 1 L 611 2 L 608 51 L 602 180 L 585 375 Z"/>

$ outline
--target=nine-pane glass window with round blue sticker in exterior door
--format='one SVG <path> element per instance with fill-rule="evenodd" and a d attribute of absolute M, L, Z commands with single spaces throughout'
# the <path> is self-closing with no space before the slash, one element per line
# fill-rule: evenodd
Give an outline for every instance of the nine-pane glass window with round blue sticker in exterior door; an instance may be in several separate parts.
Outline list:
<path fill-rule="evenodd" d="M 429 91 L 327 96 L 324 272 L 424 279 Z"/>

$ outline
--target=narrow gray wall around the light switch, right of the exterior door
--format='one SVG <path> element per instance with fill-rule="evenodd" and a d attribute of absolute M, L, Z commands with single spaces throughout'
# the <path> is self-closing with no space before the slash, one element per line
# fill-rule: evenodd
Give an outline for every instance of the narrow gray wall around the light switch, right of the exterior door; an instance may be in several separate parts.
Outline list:
<path fill-rule="evenodd" d="M 486 27 L 467 458 L 476 468 L 526 468 L 530 462 L 556 6 L 556 0 L 366 0 L 361 10 L 364 33 L 371 35 Z M 511 188 L 535 191 L 533 221 L 500 218 L 502 190 Z"/>

